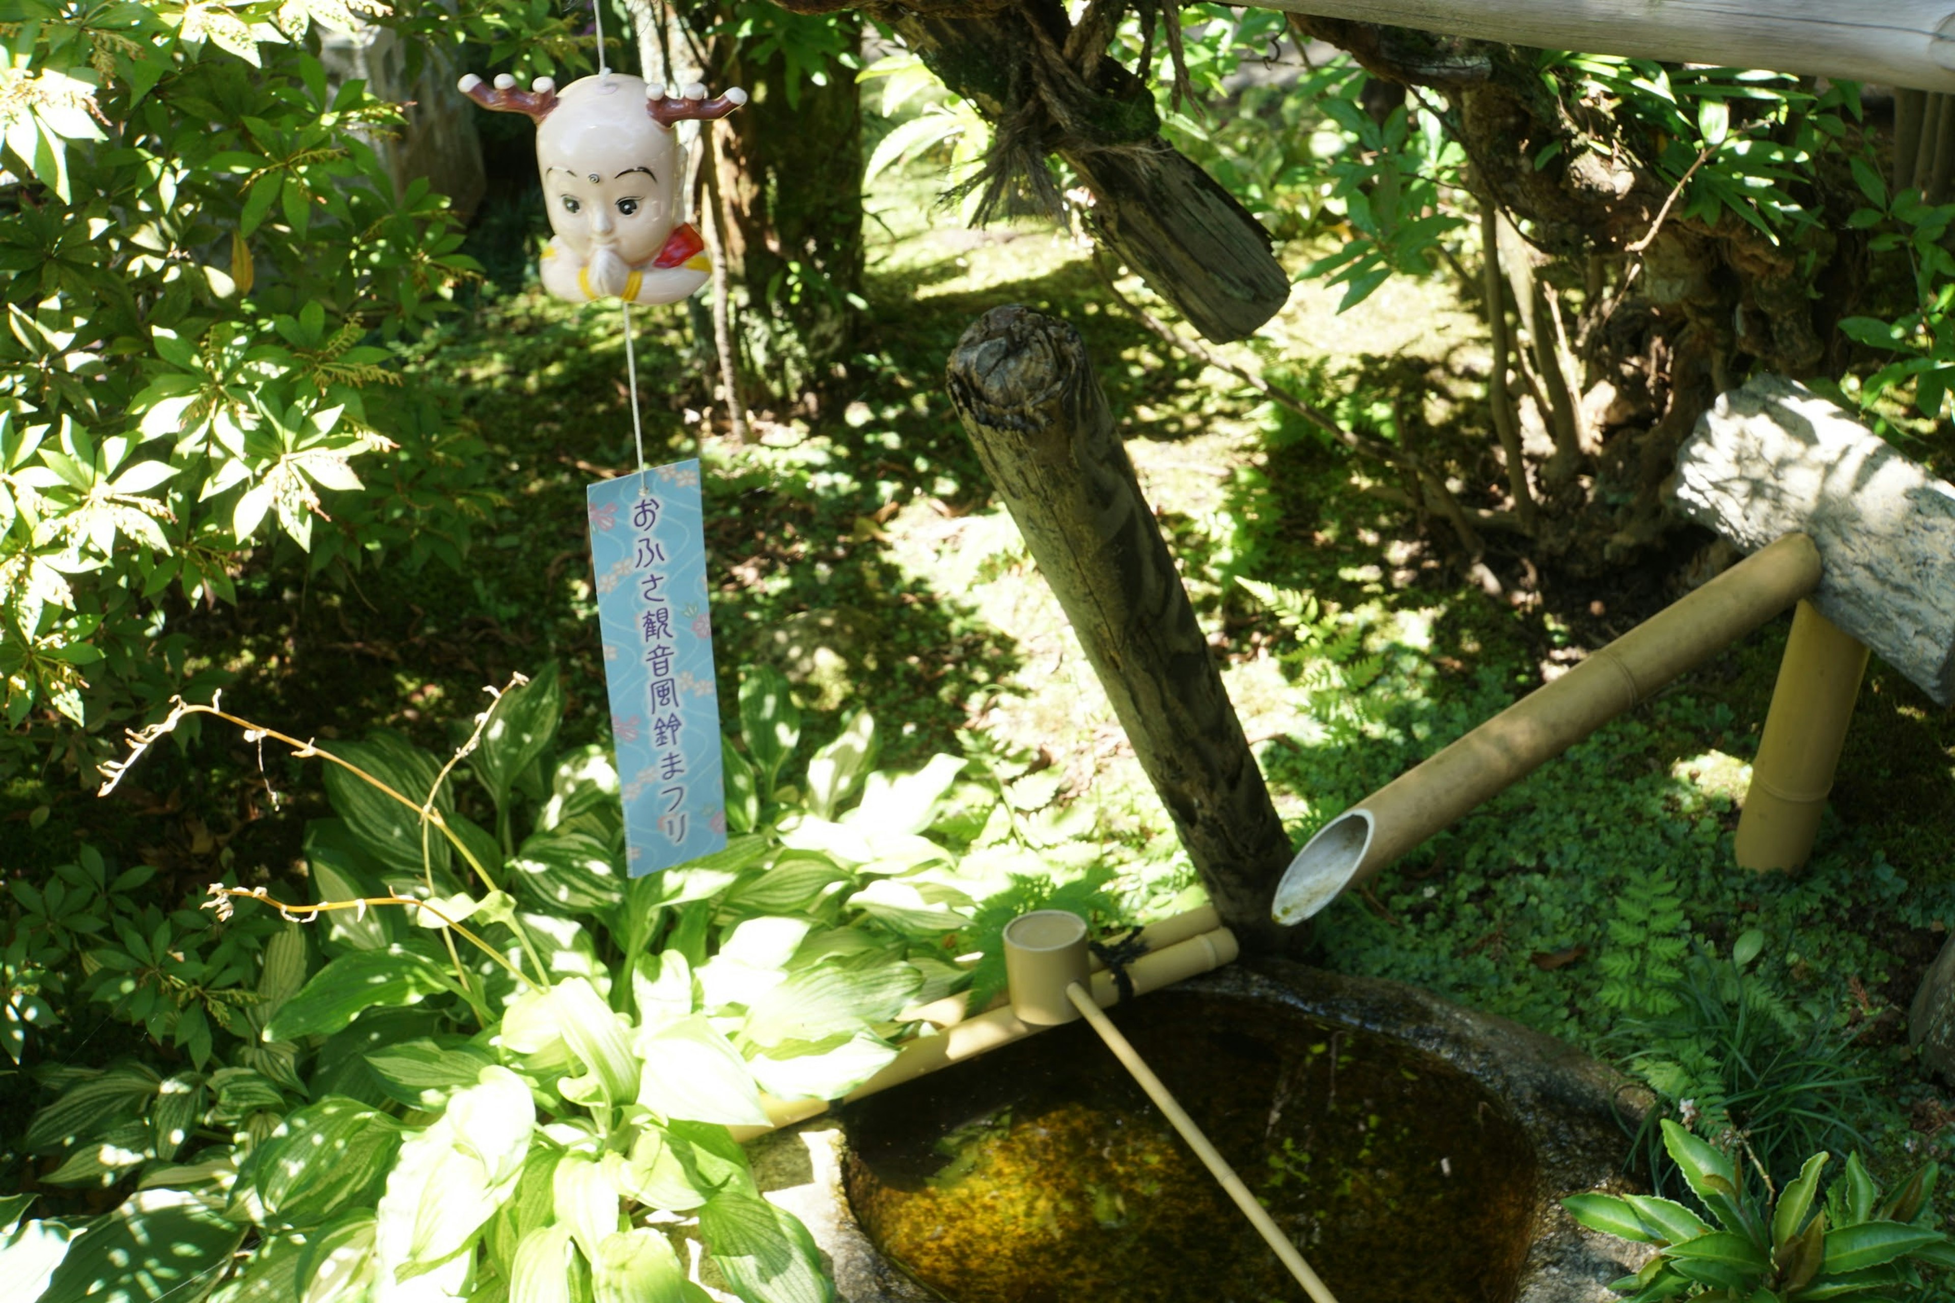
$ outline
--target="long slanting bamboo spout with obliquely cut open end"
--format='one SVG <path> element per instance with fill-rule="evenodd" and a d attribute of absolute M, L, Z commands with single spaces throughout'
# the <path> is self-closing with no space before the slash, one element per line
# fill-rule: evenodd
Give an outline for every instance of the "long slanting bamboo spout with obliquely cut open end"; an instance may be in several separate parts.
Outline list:
<path fill-rule="evenodd" d="M 1277 885 L 1271 914 L 1281 924 L 1310 918 L 1347 887 L 1374 877 L 1466 811 L 1810 594 L 1818 580 L 1820 553 L 1806 535 L 1789 533 L 1761 547 L 1327 822 L 1296 852 Z"/>

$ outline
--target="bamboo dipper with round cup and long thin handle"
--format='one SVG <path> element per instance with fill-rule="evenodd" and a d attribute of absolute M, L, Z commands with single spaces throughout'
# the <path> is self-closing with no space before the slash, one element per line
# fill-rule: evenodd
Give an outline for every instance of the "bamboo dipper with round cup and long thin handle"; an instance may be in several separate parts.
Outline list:
<path fill-rule="evenodd" d="M 1236 1176 L 1236 1168 L 1228 1164 L 1228 1158 L 1208 1143 L 1208 1137 L 1202 1135 L 1202 1129 L 1195 1125 L 1187 1110 L 1169 1094 L 1161 1078 L 1153 1074 L 1153 1069 L 1120 1035 L 1112 1020 L 1101 1012 L 1087 985 L 1089 957 L 1087 924 L 1077 914 L 1067 910 L 1032 910 L 1030 914 L 1013 918 L 1005 924 L 1005 981 L 1011 987 L 1011 1012 L 1026 1024 L 1050 1026 L 1075 1018 L 1085 1018 L 1093 1024 L 1093 1030 L 1107 1041 L 1107 1049 L 1120 1061 L 1120 1067 L 1140 1082 L 1140 1088 L 1148 1092 L 1153 1106 L 1175 1125 L 1181 1139 L 1189 1143 L 1195 1156 L 1202 1160 L 1210 1176 L 1236 1201 L 1236 1207 L 1257 1229 L 1257 1235 L 1277 1252 L 1277 1258 L 1290 1270 L 1296 1283 L 1316 1303 L 1337 1303 L 1337 1295 L 1310 1270 L 1304 1254 L 1296 1252 L 1296 1246 L 1282 1229 L 1255 1201 L 1255 1196 Z"/>

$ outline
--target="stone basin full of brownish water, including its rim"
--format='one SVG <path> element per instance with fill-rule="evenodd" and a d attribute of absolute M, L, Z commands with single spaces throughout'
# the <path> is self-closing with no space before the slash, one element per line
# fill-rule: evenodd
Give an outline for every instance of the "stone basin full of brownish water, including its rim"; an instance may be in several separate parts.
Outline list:
<path fill-rule="evenodd" d="M 1341 1303 L 1601 1303 L 1634 1246 L 1619 1078 L 1398 983 L 1236 965 L 1114 1010 Z M 1083 1024 L 776 1133 L 762 1184 L 848 1303 L 1263 1303 L 1304 1291 Z"/>

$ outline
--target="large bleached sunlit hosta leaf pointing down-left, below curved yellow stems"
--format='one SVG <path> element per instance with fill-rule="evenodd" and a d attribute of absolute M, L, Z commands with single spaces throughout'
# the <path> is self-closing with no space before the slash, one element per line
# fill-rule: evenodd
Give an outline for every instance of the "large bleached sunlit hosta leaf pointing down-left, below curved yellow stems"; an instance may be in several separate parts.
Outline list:
<path fill-rule="evenodd" d="M 487 1067 L 426 1131 L 401 1145 L 379 1201 L 379 1270 L 413 1280 L 475 1242 L 522 1176 L 536 1104 L 520 1076 Z"/>

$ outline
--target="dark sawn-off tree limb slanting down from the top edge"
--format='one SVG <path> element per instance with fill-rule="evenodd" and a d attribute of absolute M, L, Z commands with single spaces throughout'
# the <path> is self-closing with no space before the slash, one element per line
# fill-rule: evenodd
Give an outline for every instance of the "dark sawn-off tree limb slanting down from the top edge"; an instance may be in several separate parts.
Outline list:
<path fill-rule="evenodd" d="M 1054 57 L 1065 18 L 1054 4 L 983 20 L 872 6 L 942 82 L 978 105 L 1001 139 L 1028 137 L 1073 166 L 1093 203 L 1087 225 L 1175 305 L 1202 338 L 1241 340 L 1290 301 L 1269 232 L 1159 133 L 1148 88 L 1110 61 L 1091 80 Z M 1028 115 L 1036 121 L 1028 121 Z"/>

